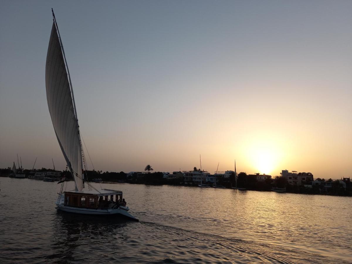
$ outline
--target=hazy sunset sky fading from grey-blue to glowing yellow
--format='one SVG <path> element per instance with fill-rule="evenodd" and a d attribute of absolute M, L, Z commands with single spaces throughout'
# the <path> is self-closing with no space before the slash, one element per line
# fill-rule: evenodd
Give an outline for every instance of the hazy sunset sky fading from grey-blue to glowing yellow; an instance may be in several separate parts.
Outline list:
<path fill-rule="evenodd" d="M 65 169 L 45 93 L 51 7 L 96 170 L 191 170 L 201 154 L 210 172 L 236 159 L 352 176 L 350 0 L 1 0 L 1 168 L 18 153 Z"/>

